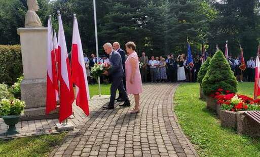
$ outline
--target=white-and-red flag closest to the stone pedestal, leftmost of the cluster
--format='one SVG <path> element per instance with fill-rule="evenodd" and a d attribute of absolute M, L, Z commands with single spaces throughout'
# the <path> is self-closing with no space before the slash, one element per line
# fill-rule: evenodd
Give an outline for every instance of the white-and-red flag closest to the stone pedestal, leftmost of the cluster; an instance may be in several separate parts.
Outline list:
<path fill-rule="evenodd" d="M 56 109 L 59 100 L 59 89 L 58 89 L 58 79 L 56 71 L 56 59 L 55 51 L 53 48 L 53 34 L 51 26 L 51 18 L 48 20 L 48 38 L 47 38 L 47 93 L 46 93 L 46 114 L 50 111 Z"/>

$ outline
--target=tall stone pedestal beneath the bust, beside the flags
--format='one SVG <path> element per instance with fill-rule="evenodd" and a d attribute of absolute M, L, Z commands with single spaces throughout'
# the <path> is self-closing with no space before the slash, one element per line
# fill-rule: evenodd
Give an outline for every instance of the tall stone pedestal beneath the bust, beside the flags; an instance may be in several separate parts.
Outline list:
<path fill-rule="evenodd" d="M 25 101 L 21 121 L 57 118 L 59 107 L 46 115 L 47 28 L 18 28 L 24 80 L 21 96 Z"/>

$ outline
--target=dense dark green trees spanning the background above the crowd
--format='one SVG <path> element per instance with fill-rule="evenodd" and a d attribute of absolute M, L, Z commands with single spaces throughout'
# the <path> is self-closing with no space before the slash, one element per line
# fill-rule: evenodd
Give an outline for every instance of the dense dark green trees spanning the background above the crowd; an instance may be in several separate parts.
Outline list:
<path fill-rule="evenodd" d="M 70 49 L 73 13 L 77 14 L 84 52 L 95 52 L 93 1 L 38 0 L 39 17 L 44 26 L 49 14 L 57 29 L 56 11 L 60 10 L 66 42 Z M 96 1 L 99 51 L 106 42 L 124 45 L 134 41 L 137 52 L 148 55 L 185 52 L 187 36 L 193 53 L 201 52 L 206 42 L 208 52 L 216 44 L 238 55 L 239 43 L 245 59 L 254 56 L 260 35 L 259 2 L 257 0 L 100 0 Z M 24 26 L 26 0 L 0 0 L 0 44 L 19 44 L 16 28 Z M 122 46 L 124 47 L 124 46 Z M 195 56 L 195 55 L 194 55 Z"/>

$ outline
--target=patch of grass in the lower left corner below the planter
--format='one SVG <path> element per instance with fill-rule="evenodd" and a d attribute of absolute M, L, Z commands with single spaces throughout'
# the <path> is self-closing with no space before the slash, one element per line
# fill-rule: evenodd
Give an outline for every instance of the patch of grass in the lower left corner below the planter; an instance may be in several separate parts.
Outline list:
<path fill-rule="evenodd" d="M 23 137 L 0 141 L 0 156 L 48 156 L 66 133 Z"/>

